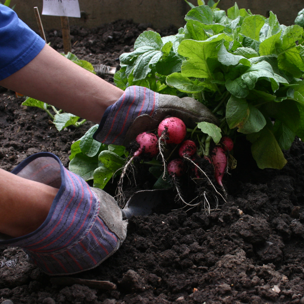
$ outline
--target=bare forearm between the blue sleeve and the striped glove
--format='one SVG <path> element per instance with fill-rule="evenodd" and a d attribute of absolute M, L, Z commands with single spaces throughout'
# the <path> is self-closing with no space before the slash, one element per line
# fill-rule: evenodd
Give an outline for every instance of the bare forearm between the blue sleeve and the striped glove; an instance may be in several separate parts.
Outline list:
<path fill-rule="evenodd" d="M 18 93 L 99 123 L 123 91 L 74 64 L 47 44 L 22 69 L 0 81 Z"/>

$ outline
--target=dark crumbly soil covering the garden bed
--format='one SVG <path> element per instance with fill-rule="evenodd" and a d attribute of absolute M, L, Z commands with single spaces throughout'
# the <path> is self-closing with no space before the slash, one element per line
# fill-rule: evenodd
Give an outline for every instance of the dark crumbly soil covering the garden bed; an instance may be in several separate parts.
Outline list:
<path fill-rule="evenodd" d="M 129 21 L 92 32 L 75 29 L 73 43 L 79 40 L 81 46 L 75 44 L 74 53 L 92 63 L 118 65 L 116 58 L 132 48 L 141 31 Z M 60 48 L 61 38 L 52 33 L 51 45 Z M 117 37 L 118 43 L 104 36 Z M 21 107 L 23 100 L 5 89 L 0 93 L 0 167 L 10 171 L 40 151 L 57 154 L 67 166 L 71 143 L 91 124 L 57 132 L 41 109 Z M 197 210 L 169 212 L 163 204 L 164 213 L 133 217 L 125 242 L 113 256 L 91 271 L 74 275 L 109 280 L 117 284 L 115 291 L 51 284 L 49 276 L 26 262 L 20 248 L 1 247 L 0 302 L 304 303 L 303 143 L 296 139 L 284 151 L 288 163 L 281 171 L 258 169 L 250 144 L 242 137 L 237 150 L 237 168 L 224 178 L 229 197 L 220 210 L 209 215 Z"/>

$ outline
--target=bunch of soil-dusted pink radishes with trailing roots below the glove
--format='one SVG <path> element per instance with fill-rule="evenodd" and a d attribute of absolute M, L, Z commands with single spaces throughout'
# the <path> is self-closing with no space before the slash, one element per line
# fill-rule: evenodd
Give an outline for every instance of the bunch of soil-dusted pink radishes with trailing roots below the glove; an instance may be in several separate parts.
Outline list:
<path fill-rule="evenodd" d="M 199 167 L 198 163 L 195 162 L 195 160 L 199 158 L 198 155 L 195 155 L 197 150 L 195 142 L 192 140 L 184 141 L 185 136 L 187 134 L 187 128 L 185 126 L 185 123 L 181 119 L 177 117 L 165 118 L 159 124 L 157 133 L 159 138 L 157 138 L 155 134 L 149 132 L 140 133 L 136 137 L 136 142 L 140 145 L 140 147 L 133 153 L 130 160 L 126 163 L 125 167 L 123 168 L 123 172 L 120 176 L 119 187 L 121 187 L 122 185 L 123 177 L 126 174 L 127 167 L 133 161 L 134 157 L 137 157 L 142 153 L 148 154 L 150 157 L 154 157 L 159 153 L 162 157 L 164 165 L 166 165 L 164 160 L 164 155 L 162 154 L 163 143 L 176 144 L 176 145 L 181 144 L 178 150 L 178 155 L 180 156 L 180 158 L 175 158 L 171 160 L 167 165 L 168 174 L 171 176 L 174 185 L 176 186 L 176 189 L 178 191 L 178 195 L 180 197 L 181 195 L 179 193 L 178 182 L 176 178 L 181 177 L 186 172 L 185 160 L 194 164 L 194 171 L 196 178 L 199 178 L 198 171 L 200 171 L 206 176 L 206 178 L 208 178 L 209 182 L 211 183 L 206 173 L 202 170 L 202 168 Z M 223 136 L 220 141 L 220 144 L 221 146 L 214 147 L 210 155 L 210 158 L 209 156 L 206 155 L 205 158 L 211 164 L 213 164 L 214 177 L 218 182 L 218 184 L 223 188 L 222 179 L 227 168 L 226 151 L 232 150 L 233 141 L 229 137 Z M 214 189 L 216 190 L 215 187 Z"/>

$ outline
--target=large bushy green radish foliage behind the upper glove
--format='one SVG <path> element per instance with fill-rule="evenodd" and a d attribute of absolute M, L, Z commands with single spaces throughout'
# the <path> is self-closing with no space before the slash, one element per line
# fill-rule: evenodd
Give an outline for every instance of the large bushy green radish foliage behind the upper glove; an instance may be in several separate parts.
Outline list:
<path fill-rule="evenodd" d="M 120 56 L 114 81 L 194 97 L 215 113 L 223 135 L 247 136 L 259 168 L 281 169 L 282 149 L 304 137 L 304 48 L 296 43 L 303 28 L 280 25 L 272 12 L 209 6 L 192 8 L 177 35 L 140 34 L 134 51 Z M 210 135 L 198 129 L 192 136 L 206 149 Z"/>

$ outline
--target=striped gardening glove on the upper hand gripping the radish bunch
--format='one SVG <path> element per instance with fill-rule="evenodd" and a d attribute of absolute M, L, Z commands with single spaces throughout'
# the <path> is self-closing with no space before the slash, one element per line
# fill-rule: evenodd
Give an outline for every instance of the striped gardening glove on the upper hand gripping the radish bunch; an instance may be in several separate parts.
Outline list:
<path fill-rule="evenodd" d="M 126 146 L 139 133 L 156 129 L 167 116 L 182 119 L 189 128 L 201 121 L 219 123 L 212 112 L 194 98 L 159 94 L 134 85 L 126 88 L 119 100 L 106 109 L 93 138 Z"/>

